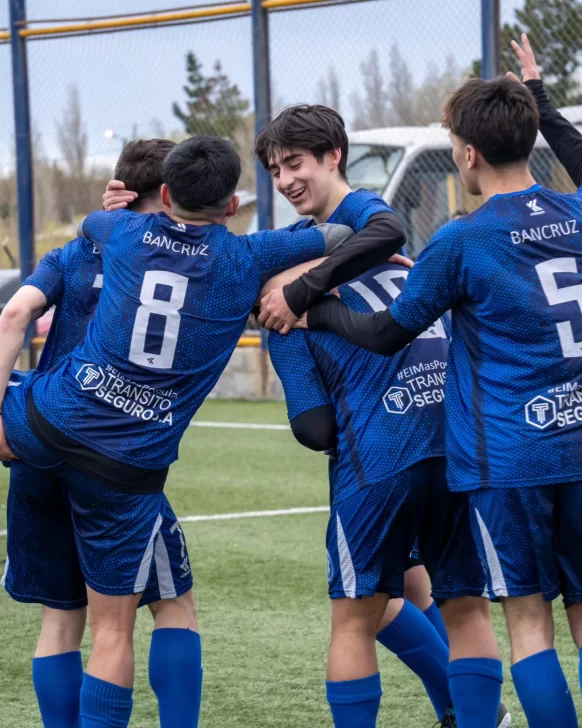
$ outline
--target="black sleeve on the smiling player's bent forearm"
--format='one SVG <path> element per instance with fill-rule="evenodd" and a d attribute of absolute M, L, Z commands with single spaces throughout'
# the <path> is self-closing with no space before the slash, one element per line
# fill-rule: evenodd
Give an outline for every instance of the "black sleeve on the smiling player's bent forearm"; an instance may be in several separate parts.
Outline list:
<path fill-rule="evenodd" d="M 372 215 L 366 227 L 339 245 L 327 260 L 283 286 L 287 305 L 301 316 L 324 293 L 387 260 L 405 242 L 404 229 L 394 213 Z"/>

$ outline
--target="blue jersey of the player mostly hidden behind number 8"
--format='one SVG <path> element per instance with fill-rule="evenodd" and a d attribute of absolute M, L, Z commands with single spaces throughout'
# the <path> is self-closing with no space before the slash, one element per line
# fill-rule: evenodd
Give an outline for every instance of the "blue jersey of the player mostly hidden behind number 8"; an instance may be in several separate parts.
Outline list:
<path fill-rule="evenodd" d="M 42 258 L 23 285 L 34 286 L 56 306 L 37 369 L 58 364 L 85 337 L 103 287 L 101 256 L 93 243 L 76 238 Z"/>

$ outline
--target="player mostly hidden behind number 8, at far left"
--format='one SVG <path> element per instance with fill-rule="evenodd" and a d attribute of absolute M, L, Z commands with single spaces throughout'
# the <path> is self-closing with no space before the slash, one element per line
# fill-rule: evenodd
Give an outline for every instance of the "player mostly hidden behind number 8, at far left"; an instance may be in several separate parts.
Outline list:
<path fill-rule="evenodd" d="M 139 190 L 139 200 L 131 206 L 136 212 L 159 209 L 163 162 L 174 146 L 162 139 L 125 146 L 116 176 Z M 85 238 L 46 255 L 24 282 L 8 304 L 11 316 L 30 321 L 56 306 L 38 371 L 58 365 L 82 341 L 102 285 L 101 258 Z M 11 384 L 18 386 L 19 381 L 22 377 Z M 33 682 L 43 723 L 48 728 L 79 725 L 83 680 L 79 650 L 87 596 L 75 543 L 74 510 L 75 503 L 69 503 L 58 471 L 35 468 L 18 460 L 11 463 L 8 558 L 3 583 L 17 601 L 43 605 Z M 150 682 L 158 698 L 161 726 L 173 728 L 197 721 L 200 646 L 186 544 L 167 501 L 162 516 L 140 605 L 148 604 L 155 618 Z"/>

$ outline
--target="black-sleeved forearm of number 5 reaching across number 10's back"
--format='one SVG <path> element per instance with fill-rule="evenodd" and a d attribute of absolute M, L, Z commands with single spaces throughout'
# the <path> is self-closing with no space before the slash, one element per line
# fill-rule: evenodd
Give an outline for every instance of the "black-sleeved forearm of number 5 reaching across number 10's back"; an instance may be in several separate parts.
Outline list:
<path fill-rule="evenodd" d="M 335 296 L 327 296 L 307 312 L 307 326 L 334 331 L 352 344 L 384 356 L 396 354 L 419 334 L 401 326 L 389 310 L 358 313 Z"/>

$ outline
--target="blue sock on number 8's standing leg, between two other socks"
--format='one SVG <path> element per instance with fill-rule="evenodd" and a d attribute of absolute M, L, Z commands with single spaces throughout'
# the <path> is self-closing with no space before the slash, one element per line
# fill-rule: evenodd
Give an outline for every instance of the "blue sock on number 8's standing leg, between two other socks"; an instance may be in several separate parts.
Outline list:
<path fill-rule="evenodd" d="M 127 728 L 133 689 L 87 675 L 81 688 L 82 728 Z"/>

